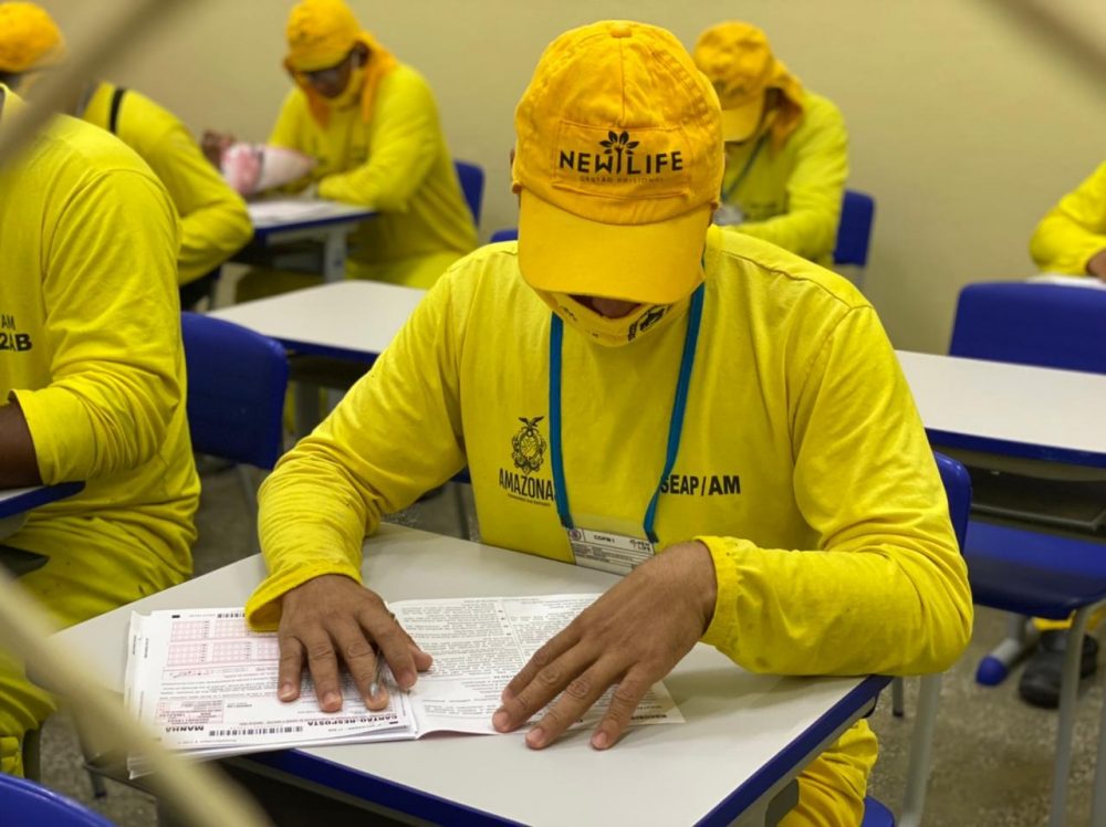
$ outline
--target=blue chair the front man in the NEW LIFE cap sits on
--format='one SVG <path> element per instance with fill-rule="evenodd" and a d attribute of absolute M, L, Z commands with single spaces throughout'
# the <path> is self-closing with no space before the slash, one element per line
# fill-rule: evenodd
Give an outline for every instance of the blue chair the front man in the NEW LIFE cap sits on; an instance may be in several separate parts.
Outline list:
<path fill-rule="evenodd" d="M 969 536 L 969 514 L 971 512 L 971 477 L 959 461 L 942 453 L 933 452 L 937 471 L 945 484 L 945 496 L 949 504 L 949 519 L 957 535 L 957 544 L 963 551 Z M 894 687 L 901 691 L 901 679 Z M 941 676 L 926 674 L 921 678 L 918 692 L 918 716 L 910 737 L 910 764 L 907 767 L 906 793 L 902 797 L 901 827 L 917 827 L 926 805 L 926 785 L 929 783 L 929 766 L 932 757 L 933 725 L 937 708 L 941 699 Z M 868 796 L 864 800 L 863 827 L 894 827 L 895 816 L 879 800 Z"/>

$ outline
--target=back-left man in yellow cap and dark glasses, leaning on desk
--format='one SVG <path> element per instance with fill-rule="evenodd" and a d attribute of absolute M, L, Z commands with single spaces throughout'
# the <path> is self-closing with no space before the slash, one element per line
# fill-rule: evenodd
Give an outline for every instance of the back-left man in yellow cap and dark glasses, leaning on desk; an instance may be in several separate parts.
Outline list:
<path fill-rule="evenodd" d="M 430 286 L 478 243 L 430 87 L 342 0 L 303 0 L 286 33 L 295 87 L 268 143 L 317 161 L 300 189 L 314 185 L 321 198 L 377 210 L 349 237 L 349 278 Z M 218 155 L 231 140 L 209 133 L 205 148 Z M 319 282 L 255 271 L 239 282 L 238 300 Z"/>

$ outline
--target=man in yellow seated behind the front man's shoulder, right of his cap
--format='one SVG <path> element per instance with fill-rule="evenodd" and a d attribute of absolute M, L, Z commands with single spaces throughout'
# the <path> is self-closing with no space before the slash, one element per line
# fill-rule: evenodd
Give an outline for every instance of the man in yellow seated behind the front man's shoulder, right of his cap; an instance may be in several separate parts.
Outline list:
<path fill-rule="evenodd" d="M 693 56 L 722 105 L 726 175 L 714 223 L 828 266 L 848 177 L 841 112 L 804 88 L 749 23 L 711 27 Z"/>

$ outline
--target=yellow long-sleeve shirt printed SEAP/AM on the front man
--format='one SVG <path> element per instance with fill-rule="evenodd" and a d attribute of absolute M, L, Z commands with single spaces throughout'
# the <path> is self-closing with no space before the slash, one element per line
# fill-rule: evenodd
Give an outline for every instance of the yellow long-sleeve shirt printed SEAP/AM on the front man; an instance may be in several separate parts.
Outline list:
<path fill-rule="evenodd" d="M 970 634 L 967 573 L 874 310 L 821 268 L 717 228 L 705 262 L 682 441 L 656 520 L 661 547 L 698 536 L 710 548 L 718 599 L 705 641 L 755 671 L 945 669 Z M 639 533 L 664 467 L 686 314 L 687 302 L 624 347 L 565 333 L 564 469 L 586 527 Z M 280 596 L 317 575 L 359 579 L 380 515 L 466 463 L 484 542 L 571 561 L 547 456 L 549 334 L 513 243 L 453 265 L 267 481 L 270 576 L 250 621 L 272 628 Z M 851 789 L 838 795 L 855 813 L 874 740 L 862 723 L 831 752 L 807 773 Z"/>

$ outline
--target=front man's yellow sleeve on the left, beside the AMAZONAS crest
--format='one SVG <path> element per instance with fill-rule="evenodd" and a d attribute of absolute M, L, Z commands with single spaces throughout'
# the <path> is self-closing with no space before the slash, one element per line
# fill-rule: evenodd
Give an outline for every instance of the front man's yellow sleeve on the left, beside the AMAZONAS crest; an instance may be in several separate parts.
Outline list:
<path fill-rule="evenodd" d="M 322 574 L 359 582 L 361 547 L 399 511 L 465 467 L 457 354 L 465 303 L 447 273 L 395 342 L 314 432 L 278 463 L 259 496 L 269 577 L 246 605 L 275 628 L 279 598 Z"/>

